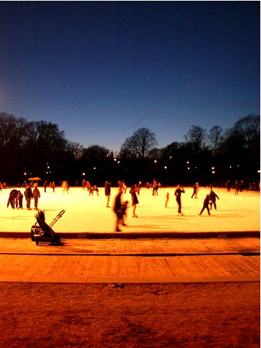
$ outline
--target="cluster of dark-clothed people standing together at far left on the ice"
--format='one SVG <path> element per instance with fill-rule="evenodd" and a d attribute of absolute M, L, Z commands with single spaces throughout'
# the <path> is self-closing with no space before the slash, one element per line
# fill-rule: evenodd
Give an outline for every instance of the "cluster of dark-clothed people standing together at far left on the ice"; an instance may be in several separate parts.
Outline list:
<path fill-rule="evenodd" d="M 24 194 L 20 190 L 11 190 L 7 208 L 10 205 L 13 209 L 23 209 L 23 198 L 26 199 L 26 210 L 31 210 L 31 199 L 34 199 L 34 209 L 38 210 L 38 199 L 40 198 L 40 191 L 38 189 L 38 185 L 35 184 L 32 190 L 31 184 L 26 185 Z"/>

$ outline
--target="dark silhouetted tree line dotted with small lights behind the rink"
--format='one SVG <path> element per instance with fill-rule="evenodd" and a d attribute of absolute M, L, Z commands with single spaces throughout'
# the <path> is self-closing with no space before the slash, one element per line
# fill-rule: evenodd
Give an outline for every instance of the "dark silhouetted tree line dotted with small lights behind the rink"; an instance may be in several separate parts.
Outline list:
<path fill-rule="evenodd" d="M 127 138 L 118 154 L 99 144 L 83 147 L 65 138 L 57 124 L 0 113 L 0 181 L 17 185 L 30 177 L 42 181 L 83 179 L 103 185 L 157 179 L 166 185 L 191 185 L 244 180 L 259 183 L 260 116 L 247 115 L 230 128 L 208 132 L 193 125 L 184 142 L 157 147 L 155 133 L 140 128 Z"/>

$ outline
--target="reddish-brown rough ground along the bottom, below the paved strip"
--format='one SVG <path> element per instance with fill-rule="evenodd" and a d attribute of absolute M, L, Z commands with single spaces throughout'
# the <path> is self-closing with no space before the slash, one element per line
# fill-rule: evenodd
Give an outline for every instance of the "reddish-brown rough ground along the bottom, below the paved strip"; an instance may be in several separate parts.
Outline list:
<path fill-rule="evenodd" d="M 260 283 L 0 283 L 1 347 L 260 347 Z"/>

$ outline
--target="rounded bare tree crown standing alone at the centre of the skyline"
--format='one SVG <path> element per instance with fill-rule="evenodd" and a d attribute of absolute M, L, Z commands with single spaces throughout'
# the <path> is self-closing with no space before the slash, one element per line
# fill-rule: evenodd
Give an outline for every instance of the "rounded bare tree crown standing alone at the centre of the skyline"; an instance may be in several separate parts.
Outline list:
<path fill-rule="evenodd" d="M 122 144 L 120 156 L 144 159 L 155 145 L 157 145 L 155 133 L 150 129 L 140 128 Z"/>

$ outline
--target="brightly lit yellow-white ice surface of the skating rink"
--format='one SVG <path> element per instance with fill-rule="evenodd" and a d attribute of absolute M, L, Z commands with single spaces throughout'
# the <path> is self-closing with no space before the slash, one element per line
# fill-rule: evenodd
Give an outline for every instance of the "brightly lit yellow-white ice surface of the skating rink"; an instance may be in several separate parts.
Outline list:
<path fill-rule="evenodd" d="M 116 214 L 113 204 L 118 187 L 111 187 L 109 207 L 106 206 L 107 197 L 104 187 L 98 187 L 98 192 L 89 194 L 88 190 L 81 187 L 70 187 L 65 191 L 61 186 L 55 190 L 47 188 L 45 192 L 42 185 L 38 185 L 40 199 L 38 208 L 45 210 L 45 221 L 51 223 L 61 211 L 65 214 L 54 226 L 56 233 L 79 233 L 79 238 L 84 233 L 117 233 Z M 184 187 L 181 195 L 182 216 L 177 214 L 177 201 L 175 199 L 176 186 L 162 186 L 158 194 L 152 195 L 152 188 L 142 187 L 137 194 L 139 204 L 136 205 L 137 217 L 132 217 L 132 197 L 129 193 L 130 186 L 122 193 L 122 201 L 128 201 L 126 226 L 122 226 L 121 233 L 159 233 L 159 232 L 219 232 L 219 231 L 260 231 L 260 192 L 243 190 L 235 194 L 235 189 L 230 192 L 226 188 L 213 188 L 218 195 L 216 210 L 212 206 L 210 214 L 204 210 L 203 201 L 209 194 L 209 187 L 199 185 L 197 198 L 191 198 L 192 187 Z M 0 192 L 0 231 L 1 232 L 30 232 L 35 224 L 35 210 L 33 200 L 32 210 L 26 210 L 26 201 L 23 199 L 23 209 L 7 208 L 10 191 L 6 188 Z M 24 194 L 24 188 L 16 188 Z M 166 195 L 169 195 L 166 206 Z M 63 235 L 61 235 L 63 238 Z"/>

